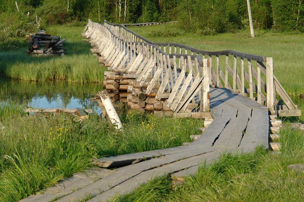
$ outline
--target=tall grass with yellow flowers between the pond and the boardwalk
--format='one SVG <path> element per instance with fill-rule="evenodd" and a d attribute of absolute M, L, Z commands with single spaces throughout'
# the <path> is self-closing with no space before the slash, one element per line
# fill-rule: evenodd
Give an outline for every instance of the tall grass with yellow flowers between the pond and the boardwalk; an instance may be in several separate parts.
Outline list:
<path fill-rule="evenodd" d="M 79 123 L 67 114 L 29 116 L 23 107 L 0 105 L 0 201 L 18 201 L 92 167 L 92 157 L 181 145 L 203 126 L 199 119 L 129 111 L 120 115 L 124 131 L 116 131 L 96 114 Z"/>

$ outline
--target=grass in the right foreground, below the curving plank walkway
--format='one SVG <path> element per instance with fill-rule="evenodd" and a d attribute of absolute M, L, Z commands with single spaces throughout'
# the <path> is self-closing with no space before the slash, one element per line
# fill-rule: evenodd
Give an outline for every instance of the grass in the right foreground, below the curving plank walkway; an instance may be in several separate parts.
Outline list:
<path fill-rule="evenodd" d="M 304 173 L 288 169 L 303 163 L 303 132 L 284 129 L 279 141 L 281 153 L 262 147 L 251 153 L 224 153 L 211 165 L 203 163 L 181 186 L 172 186 L 164 176 L 112 201 L 303 201 Z"/>

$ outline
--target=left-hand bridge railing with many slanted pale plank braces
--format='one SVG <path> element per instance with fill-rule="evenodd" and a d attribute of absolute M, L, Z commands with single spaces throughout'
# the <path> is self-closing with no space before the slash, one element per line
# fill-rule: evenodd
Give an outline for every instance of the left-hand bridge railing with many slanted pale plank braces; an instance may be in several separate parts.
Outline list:
<path fill-rule="evenodd" d="M 100 55 L 109 58 L 112 71 L 135 74 L 140 86 L 150 77 L 145 94 L 157 84 L 156 99 L 166 98 L 171 110 L 185 111 L 192 103 L 198 111 L 209 111 L 209 59 L 198 54 L 168 54 L 159 46 L 136 41 L 131 32 L 117 26 L 89 20 L 87 28 L 88 38 L 96 41 Z"/>

